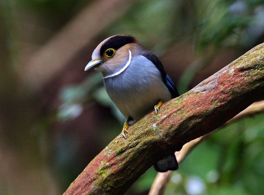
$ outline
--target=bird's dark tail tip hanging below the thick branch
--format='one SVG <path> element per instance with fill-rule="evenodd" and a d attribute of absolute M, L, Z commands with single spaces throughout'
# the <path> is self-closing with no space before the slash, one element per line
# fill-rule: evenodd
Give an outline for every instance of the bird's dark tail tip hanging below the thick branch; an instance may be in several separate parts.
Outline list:
<path fill-rule="evenodd" d="M 166 172 L 168 170 L 177 170 L 179 167 L 175 154 L 166 156 L 164 159 L 158 161 L 154 168 L 158 172 Z"/>

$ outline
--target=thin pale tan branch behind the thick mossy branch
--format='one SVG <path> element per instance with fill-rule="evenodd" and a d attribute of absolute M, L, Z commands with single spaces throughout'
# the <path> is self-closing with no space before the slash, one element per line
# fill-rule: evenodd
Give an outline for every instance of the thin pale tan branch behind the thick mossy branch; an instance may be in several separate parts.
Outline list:
<path fill-rule="evenodd" d="M 225 124 L 223 124 L 221 127 L 217 128 L 215 131 L 218 131 L 220 128 L 227 126 L 231 123 L 237 122 L 238 120 L 241 120 L 245 117 L 253 116 L 253 115 L 256 115 L 258 113 L 264 113 L 264 100 L 251 104 L 250 106 L 248 106 L 248 108 L 246 108 L 241 113 L 239 113 L 238 115 L 236 115 L 235 117 L 233 117 L 232 119 L 227 121 Z M 180 151 L 175 152 L 176 159 L 177 159 L 178 163 L 180 164 L 180 162 L 183 159 L 185 159 L 187 154 L 198 143 L 200 143 L 205 138 L 209 137 L 211 135 L 211 133 L 213 133 L 215 131 L 212 131 L 212 132 L 210 132 L 210 133 L 208 133 L 202 137 L 196 138 L 195 140 L 192 140 L 192 141 L 186 143 Z M 162 195 L 169 179 L 171 178 L 171 174 L 172 174 L 172 171 L 167 171 L 165 173 L 158 173 L 153 184 L 152 184 L 152 186 L 151 186 L 151 188 L 150 188 L 148 195 Z"/>

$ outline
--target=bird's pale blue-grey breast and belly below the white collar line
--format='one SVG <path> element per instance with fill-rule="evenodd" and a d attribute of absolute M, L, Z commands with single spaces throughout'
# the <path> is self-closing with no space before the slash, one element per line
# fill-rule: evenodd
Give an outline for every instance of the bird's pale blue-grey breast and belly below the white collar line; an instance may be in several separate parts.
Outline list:
<path fill-rule="evenodd" d="M 159 70 L 141 55 L 132 58 L 119 75 L 105 78 L 103 82 L 109 97 L 126 118 L 137 120 L 154 110 L 159 100 L 171 99 Z"/>

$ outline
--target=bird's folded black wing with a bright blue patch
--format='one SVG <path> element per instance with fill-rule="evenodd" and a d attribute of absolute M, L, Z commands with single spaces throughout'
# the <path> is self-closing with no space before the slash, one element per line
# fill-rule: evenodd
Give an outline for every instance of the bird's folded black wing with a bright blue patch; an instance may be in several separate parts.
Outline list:
<path fill-rule="evenodd" d="M 161 61 L 159 60 L 159 58 L 153 53 L 150 53 L 149 51 L 144 52 L 142 55 L 148 60 L 150 60 L 157 67 L 157 69 L 161 73 L 161 78 L 164 84 L 168 87 L 169 91 L 171 92 L 172 99 L 180 96 L 171 78 L 165 72 L 163 65 Z"/>

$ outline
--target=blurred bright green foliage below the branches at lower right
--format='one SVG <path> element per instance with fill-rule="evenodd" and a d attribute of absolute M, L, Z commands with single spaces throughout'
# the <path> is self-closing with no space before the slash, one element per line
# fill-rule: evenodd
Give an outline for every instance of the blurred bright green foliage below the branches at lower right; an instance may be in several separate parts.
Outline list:
<path fill-rule="evenodd" d="M 180 170 L 173 173 L 165 194 L 190 194 L 187 184 L 192 177 L 201 180 L 196 190 L 203 189 L 193 194 L 262 194 L 263 119 L 264 114 L 245 118 L 200 143 L 180 164 Z M 175 182 L 177 175 L 180 180 Z"/>

